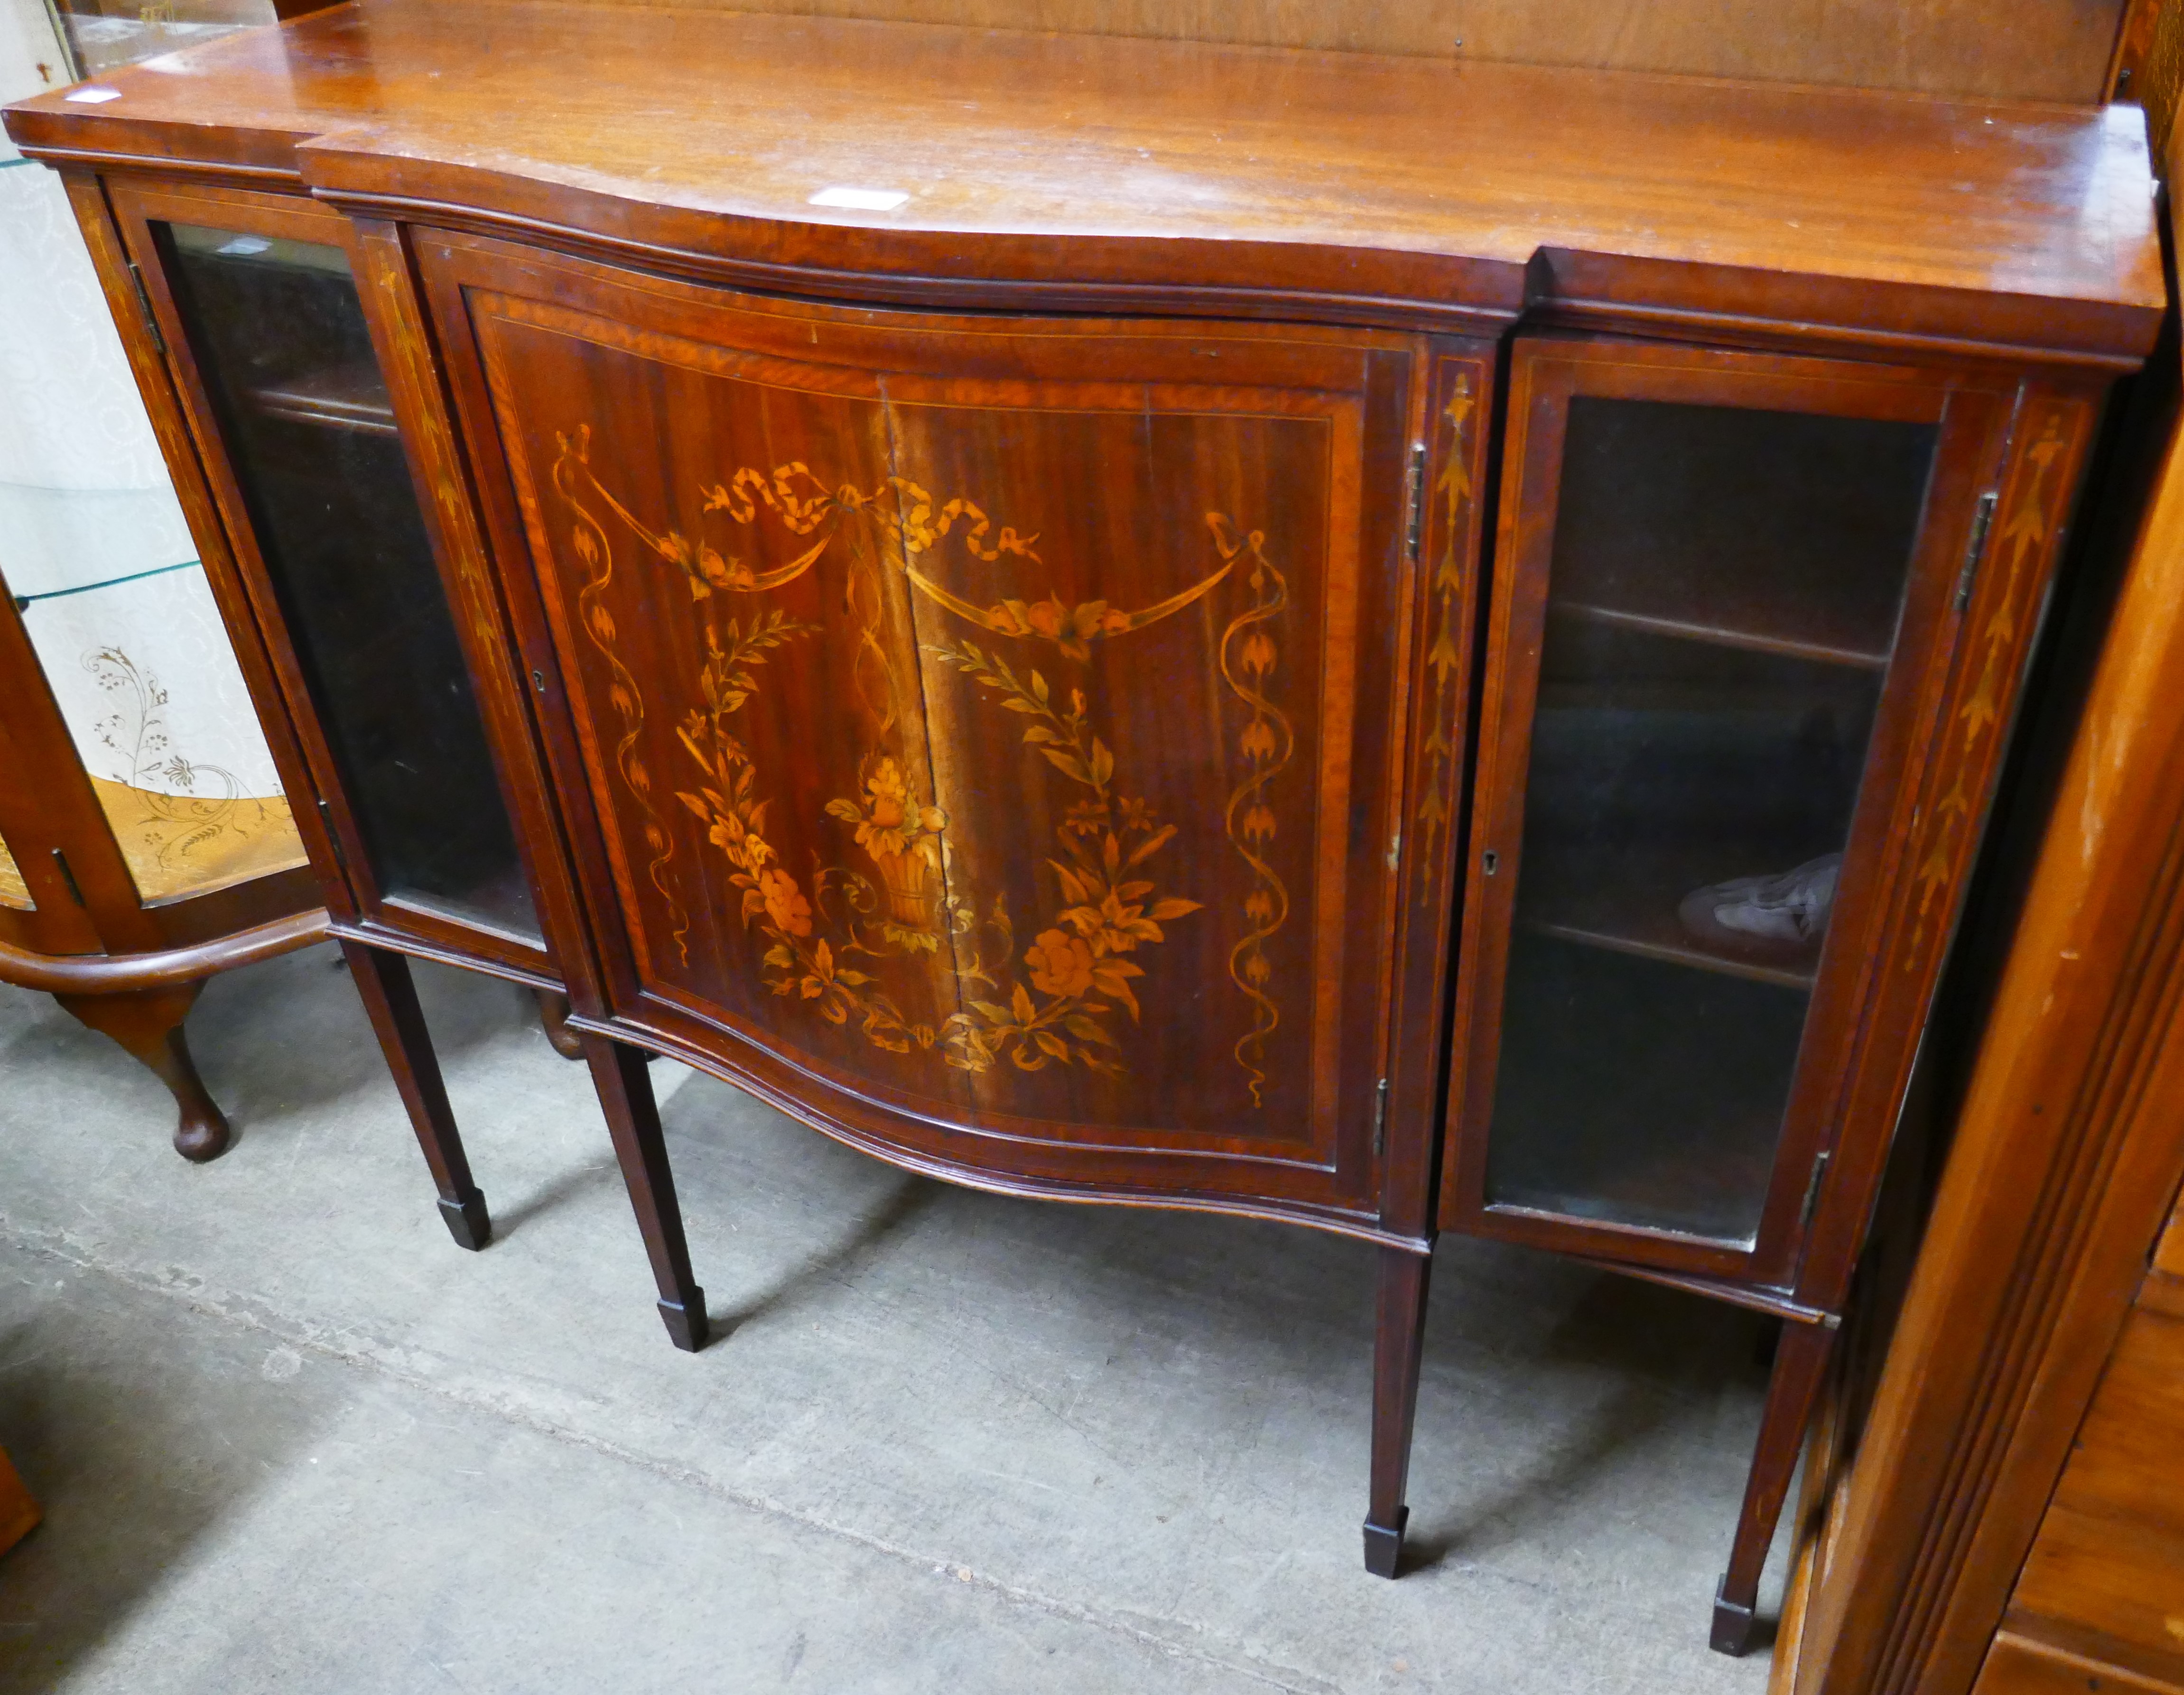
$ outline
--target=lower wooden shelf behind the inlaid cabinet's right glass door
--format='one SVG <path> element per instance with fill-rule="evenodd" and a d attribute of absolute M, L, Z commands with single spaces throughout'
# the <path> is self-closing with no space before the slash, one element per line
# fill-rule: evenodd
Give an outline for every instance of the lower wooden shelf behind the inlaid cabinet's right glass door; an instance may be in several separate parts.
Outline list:
<path fill-rule="evenodd" d="M 1806 854 L 1811 858 L 1811 854 Z M 1732 876 L 1787 872 L 1795 850 L 1741 850 L 1736 843 L 1662 843 L 1642 847 L 1559 847 L 1527 854 L 1520 867 L 1518 924 L 1540 935 L 1723 972 L 1787 989 L 1811 989 L 1819 970 L 1815 937 L 1806 948 L 1754 944 L 1736 955 L 1697 941 L 1677 917 L 1693 889 Z"/>

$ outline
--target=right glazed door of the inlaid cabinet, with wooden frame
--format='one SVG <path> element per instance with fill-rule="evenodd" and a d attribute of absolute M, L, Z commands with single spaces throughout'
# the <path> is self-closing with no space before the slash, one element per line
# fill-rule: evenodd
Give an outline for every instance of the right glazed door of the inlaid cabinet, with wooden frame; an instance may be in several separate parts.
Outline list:
<path fill-rule="evenodd" d="M 1782 1289 L 1856 1238 L 2088 419 L 1518 343 L 1444 1225 Z"/>

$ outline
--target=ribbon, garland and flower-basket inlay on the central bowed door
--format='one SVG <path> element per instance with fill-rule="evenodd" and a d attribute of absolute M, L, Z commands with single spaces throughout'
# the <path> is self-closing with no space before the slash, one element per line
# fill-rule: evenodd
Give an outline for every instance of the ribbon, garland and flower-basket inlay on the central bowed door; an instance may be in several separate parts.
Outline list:
<path fill-rule="evenodd" d="M 1201 902 L 1162 887 L 1162 850 L 1175 826 L 1155 817 L 1149 799 L 1125 793 L 1114 754 L 1083 688 L 1053 681 L 968 636 L 926 642 L 924 653 L 972 679 L 1000 710 L 1022 719 L 1022 745 L 1037 751 L 1075 791 L 1055 826 L 1055 850 L 1042 872 L 1051 876 L 1053 906 L 1031 922 L 1018 944 L 1007 898 L 976 900 L 957 887 L 957 858 L 948 843 L 948 813 L 935 795 L 917 791 L 917 749 L 906 743 L 909 706 L 919 679 L 904 677 L 887 642 L 887 572 L 900 574 L 922 598 L 950 616 L 1018 642 L 1051 644 L 1064 664 L 1083 664 L 1094 644 L 1140 631 L 1208 596 L 1247 566 L 1251 605 L 1236 614 L 1221 638 L 1221 675 L 1247 706 L 1241 736 L 1247 764 L 1225 808 L 1232 845 L 1256 876 L 1245 898 L 1245 935 L 1230 950 L 1230 976 L 1251 1003 L 1251 1029 L 1236 1044 L 1236 1062 L 1260 1103 L 1265 1040 L 1280 1024 L 1269 994 L 1273 976 L 1265 944 L 1289 917 L 1289 893 L 1262 856 L 1275 832 L 1267 789 L 1295 756 L 1289 719 L 1267 695 L 1275 668 L 1269 620 L 1289 603 L 1282 572 L 1265 555 L 1265 535 L 1236 535 L 1223 513 L 1206 513 L 1219 568 L 1179 594 L 1140 609 L 1107 601 L 1064 603 L 1002 598 L 974 605 L 943 588 L 933 570 L 941 540 L 957 540 L 985 561 L 1005 555 L 1040 564 L 1037 535 L 994 522 L 965 498 L 937 502 L 904 476 L 871 489 L 828 487 L 802 461 L 771 472 L 740 467 L 725 483 L 703 489 L 703 511 L 725 513 L 736 526 L 762 518 L 788 535 L 810 537 L 786 564 L 756 568 L 703 537 L 655 531 L 609 494 L 590 470 L 590 430 L 559 435 L 553 485 L 572 513 L 570 540 L 585 570 L 579 618 L 585 638 L 607 660 L 609 703 L 622 721 L 614 764 L 644 813 L 644 843 L 653 858 L 646 876 L 668 902 L 677 948 L 688 963 L 690 915 L 666 878 L 673 837 L 653 806 L 653 773 L 638 751 L 644 695 L 616 653 L 616 625 L 603 605 L 614 579 L 612 515 L 651 557 L 673 566 L 688 585 L 703 629 L 703 666 L 695 708 L 677 725 L 690 767 L 673 786 L 675 802 L 703 826 L 712 847 L 740 889 L 740 917 L 767 941 L 760 974 L 775 996 L 810 1003 L 832 1024 L 856 1024 L 891 1053 L 933 1053 L 965 1072 L 989 1072 L 1002 1059 L 1018 1070 L 1083 1066 L 1120 1075 L 1123 1029 L 1118 1014 L 1138 1022 L 1142 1007 L 1133 981 L 1144 968 L 1133 955 L 1166 941 L 1168 924 L 1201 911 Z M 992 537 L 992 540 L 987 540 Z M 863 723 L 856 767 L 858 789 L 826 802 L 845 843 L 832 858 L 812 850 L 799 876 L 769 839 L 767 773 L 736 736 L 736 714 L 760 692 L 769 655 L 823 636 L 819 625 L 782 609 L 753 605 L 749 614 L 721 616 L 716 596 L 764 596 L 786 588 L 826 559 L 841 542 L 847 555 L 841 607 L 854 631 L 854 692 Z M 850 850 L 860 852 L 854 861 Z M 889 992 L 889 970 L 935 957 L 952 961 L 959 1009 L 933 1020 L 904 1014 Z"/>

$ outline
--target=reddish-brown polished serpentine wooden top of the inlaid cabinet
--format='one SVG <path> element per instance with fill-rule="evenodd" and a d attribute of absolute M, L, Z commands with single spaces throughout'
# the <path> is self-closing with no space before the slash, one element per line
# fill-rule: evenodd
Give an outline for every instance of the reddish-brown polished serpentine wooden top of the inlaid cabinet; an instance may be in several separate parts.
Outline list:
<path fill-rule="evenodd" d="M 529 0 L 349 0 L 100 87 L 9 133 L 797 293 L 2114 367 L 2164 301 L 2136 107 Z"/>

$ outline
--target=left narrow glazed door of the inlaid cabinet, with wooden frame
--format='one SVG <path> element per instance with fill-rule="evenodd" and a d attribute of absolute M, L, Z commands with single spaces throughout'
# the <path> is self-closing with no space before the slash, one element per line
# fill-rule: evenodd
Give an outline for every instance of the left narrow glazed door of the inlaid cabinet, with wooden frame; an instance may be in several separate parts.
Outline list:
<path fill-rule="evenodd" d="M 480 616 L 437 564 L 446 478 L 413 457 L 376 339 L 413 306 L 367 312 L 358 225 L 299 194 L 116 179 L 109 199 L 232 542 L 227 616 L 264 633 L 323 797 L 297 810 L 339 865 L 336 920 L 553 983 L 502 769 L 529 756 L 522 697 L 472 686 Z M 485 623 L 474 647 L 500 640 Z"/>

